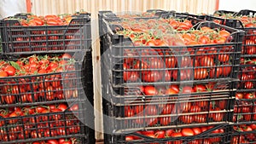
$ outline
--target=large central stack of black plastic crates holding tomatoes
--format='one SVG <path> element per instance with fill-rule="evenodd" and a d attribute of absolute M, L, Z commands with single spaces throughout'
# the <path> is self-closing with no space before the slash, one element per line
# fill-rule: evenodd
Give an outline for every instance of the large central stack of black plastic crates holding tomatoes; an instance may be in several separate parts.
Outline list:
<path fill-rule="evenodd" d="M 227 43 L 185 46 L 172 31 L 177 36 L 172 44 L 147 46 L 134 43 L 131 33 L 125 35 L 129 20 L 100 13 L 105 143 L 230 141 L 244 33 L 181 15 L 163 12 L 152 17 L 133 15 L 129 20 L 133 24 L 156 20 L 171 24 L 171 17 L 190 20 L 195 30 L 224 29 L 232 38 Z"/>

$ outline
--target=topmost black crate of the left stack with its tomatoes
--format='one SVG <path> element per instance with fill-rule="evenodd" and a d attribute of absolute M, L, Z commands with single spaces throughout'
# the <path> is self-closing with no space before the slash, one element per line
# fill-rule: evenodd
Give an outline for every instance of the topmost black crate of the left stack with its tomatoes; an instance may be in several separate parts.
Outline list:
<path fill-rule="evenodd" d="M 10 18 L 1 22 L 4 23 L 3 35 L 6 36 L 2 37 L 5 53 L 28 54 L 34 51 L 89 49 L 89 46 L 84 46 L 90 45 L 89 17 L 79 18 L 71 14 L 27 15 L 26 20 Z M 11 44 L 7 44 L 10 42 Z"/>

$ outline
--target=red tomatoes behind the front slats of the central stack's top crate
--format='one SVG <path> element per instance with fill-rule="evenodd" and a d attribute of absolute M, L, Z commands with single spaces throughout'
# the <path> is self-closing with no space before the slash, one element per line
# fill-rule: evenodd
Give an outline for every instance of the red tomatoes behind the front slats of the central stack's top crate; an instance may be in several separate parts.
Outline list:
<path fill-rule="evenodd" d="M 230 78 L 232 66 L 230 64 L 230 55 L 218 54 L 218 50 L 201 49 L 195 50 L 195 53 L 201 53 L 199 56 L 173 55 L 169 49 L 129 49 L 125 55 L 129 58 L 124 59 L 123 79 L 125 82 L 170 82 L 184 80 L 201 80 L 201 79 L 216 79 Z M 206 55 L 202 55 L 203 53 Z M 192 53 L 192 52 L 191 52 Z M 194 52 L 193 52 L 194 53 Z M 138 56 L 142 58 L 138 58 Z M 152 57 L 148 57 L 148 56 Z M 192 54 L 191 54 L 192 55 Z M 201 61 L 201 62 L 200 62 Z M 217 62 L 216 62 L 217 61 Z M 178 69 L 177 69 L 178 68 Z"/>

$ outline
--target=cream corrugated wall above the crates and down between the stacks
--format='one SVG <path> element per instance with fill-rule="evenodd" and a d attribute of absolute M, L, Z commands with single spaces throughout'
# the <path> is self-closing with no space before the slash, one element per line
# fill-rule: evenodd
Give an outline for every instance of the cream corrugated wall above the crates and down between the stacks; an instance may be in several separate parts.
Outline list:
<path fill-rule="evenodd" d="M 84 9 L 92 14 L 93 23 L 93 66 L 94 66 L 94 94 L 96 107 L 96 139 L 102 139 L 102 104 L 101 104 L 101 78 L 100 51 L 97 40 L 97 11 L 112 10 L 113 12 L 146 11 L 147 9 L 176 10 L 192 14 L 215 11 L 216 0 L 32 0 L 33 14 L 64 14 Z"/>

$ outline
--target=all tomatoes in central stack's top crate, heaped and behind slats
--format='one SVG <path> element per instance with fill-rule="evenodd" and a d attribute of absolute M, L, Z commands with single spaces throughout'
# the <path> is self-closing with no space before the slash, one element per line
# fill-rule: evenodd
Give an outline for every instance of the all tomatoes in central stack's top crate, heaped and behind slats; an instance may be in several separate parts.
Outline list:
<path fill-rule="evenodd" d="M 180 31 L 177 20 L 128 20 L 118 22 L 125 30 L 118 34 L 131 38 L 134 46 L 157 46 L 141 49 L 124 49 L 125 82 L 170 82 L 230 78 L 232 70 L 232 46 L 205 46 L 202 44 L 224 44 L 230 42 L 230 32 L 202 26 L 200 30 L 189 30 L 192 24 L 184 20 L 189 31 Z M 116 22 L 115 22 L 116 23 Z M 175 28 L 175 30 L 173 30 Z M 173 34 L 177 31 L 177 34 Z M 168 49 L 164 46 L 184 46 L 183 49 Z M 195 47 L 201 45 L 201 47 Z"/>

